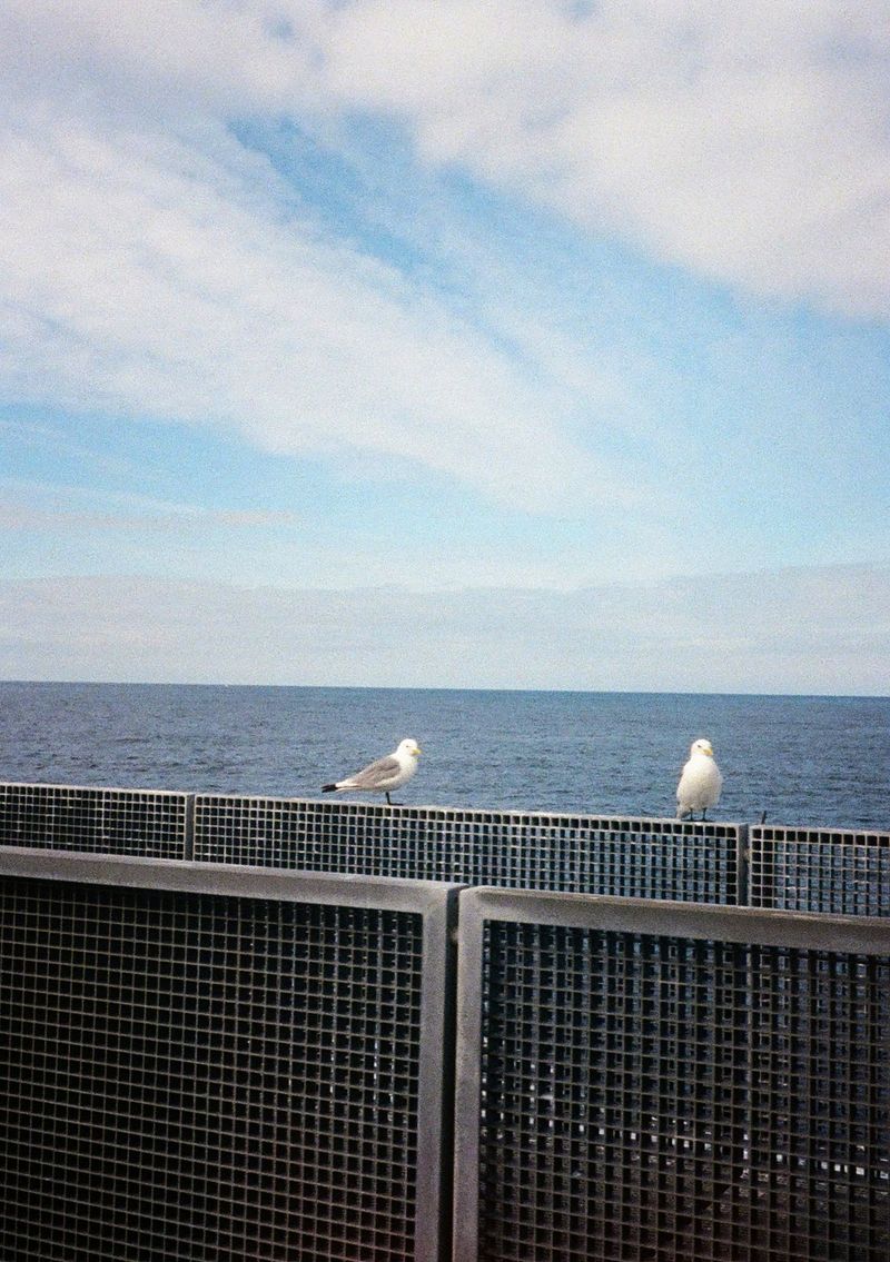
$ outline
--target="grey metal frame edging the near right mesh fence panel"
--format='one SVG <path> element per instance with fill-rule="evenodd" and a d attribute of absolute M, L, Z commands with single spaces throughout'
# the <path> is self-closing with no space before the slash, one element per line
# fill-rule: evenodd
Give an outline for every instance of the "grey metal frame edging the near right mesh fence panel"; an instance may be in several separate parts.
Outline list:
<path fill-rule="evenodd" d="M 477 1262 L 480 1246 L 482 953 L 486 921 L 890 955 L 890 920 L 872 916 L 495 887 L 462 891 L 457 963 L 453 1262 Z"/>

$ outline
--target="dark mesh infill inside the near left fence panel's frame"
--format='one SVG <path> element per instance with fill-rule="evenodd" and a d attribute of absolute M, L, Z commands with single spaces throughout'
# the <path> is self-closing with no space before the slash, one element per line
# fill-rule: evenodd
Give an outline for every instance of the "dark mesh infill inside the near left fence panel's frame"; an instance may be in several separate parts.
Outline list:
<path fill-rule="evenodd" d="M 415 1256 L 419 911 L 9 876 L 0 902 L 3 1257 Z"/>

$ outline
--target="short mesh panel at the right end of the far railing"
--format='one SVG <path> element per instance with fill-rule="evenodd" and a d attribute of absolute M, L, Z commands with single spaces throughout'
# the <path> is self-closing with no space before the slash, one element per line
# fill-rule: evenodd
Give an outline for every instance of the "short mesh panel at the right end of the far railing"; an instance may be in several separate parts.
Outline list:
<path fill-rule="evenodd" d="M 755 825 L 750 901 L 789 911 L 890 916 L 890 833 Z"/>

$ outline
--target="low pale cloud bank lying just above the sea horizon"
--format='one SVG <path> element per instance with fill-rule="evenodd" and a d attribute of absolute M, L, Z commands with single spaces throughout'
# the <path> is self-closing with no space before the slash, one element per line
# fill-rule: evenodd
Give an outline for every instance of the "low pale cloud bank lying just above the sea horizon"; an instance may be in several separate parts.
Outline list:
<path fill-rule="evenodd" d="M 890 569 L 872 567 L 568 593 L 6 582 L 0 675 L 885 694 L 887 610 Z"/>

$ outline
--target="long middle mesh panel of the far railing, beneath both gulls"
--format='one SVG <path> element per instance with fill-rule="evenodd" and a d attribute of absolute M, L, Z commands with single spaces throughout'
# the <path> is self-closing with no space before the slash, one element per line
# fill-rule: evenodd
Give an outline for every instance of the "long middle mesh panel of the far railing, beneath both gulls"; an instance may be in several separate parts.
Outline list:
<path fill-rule="evenodd" d="M 198 795 L 194 857 L 312 872 L 735 904 L 737 824 Z"/>

